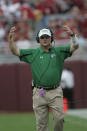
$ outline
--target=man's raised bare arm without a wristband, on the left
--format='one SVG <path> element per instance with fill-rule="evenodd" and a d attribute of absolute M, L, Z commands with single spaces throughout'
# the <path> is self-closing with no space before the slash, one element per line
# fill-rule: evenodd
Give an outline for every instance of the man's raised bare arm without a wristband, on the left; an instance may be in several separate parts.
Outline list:
<path fill-rule="evenodd" d="M 12 27 L 9 32 L 8 41 L 9 41 L 9 47 L 11 52 L 16 55 L 20 56 L 19 48 L 14 44 L 14 35 L 15 35 L 16 28 Z"/>

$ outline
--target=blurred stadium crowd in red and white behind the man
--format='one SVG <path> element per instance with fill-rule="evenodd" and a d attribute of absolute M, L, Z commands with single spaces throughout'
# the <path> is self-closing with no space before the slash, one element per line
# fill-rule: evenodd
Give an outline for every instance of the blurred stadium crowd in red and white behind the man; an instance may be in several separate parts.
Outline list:
<path fill-rule="evenodd" d="M 56 40 L 66 39 L 63 25 L 87 38 L 87 0 L 0 0 L 0 43 L 12 26 L 16 41 L 34 40 L 42 27 L 50 27 Z"/>

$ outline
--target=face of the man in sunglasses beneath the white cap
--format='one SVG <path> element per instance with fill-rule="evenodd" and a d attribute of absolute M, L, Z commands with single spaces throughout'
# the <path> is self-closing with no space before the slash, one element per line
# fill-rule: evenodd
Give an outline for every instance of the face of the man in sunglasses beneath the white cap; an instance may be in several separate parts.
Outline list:
<path fill-rule="evenodd" d="M 49 46 L 51 44 L 51 37 L 48 35 L 42 35 L 40 38 L 40 44 L 44 47 Z"/>

